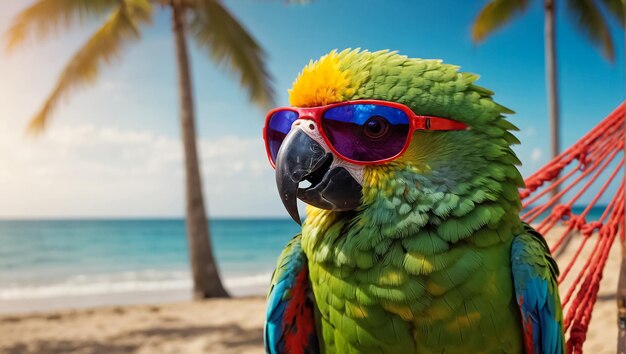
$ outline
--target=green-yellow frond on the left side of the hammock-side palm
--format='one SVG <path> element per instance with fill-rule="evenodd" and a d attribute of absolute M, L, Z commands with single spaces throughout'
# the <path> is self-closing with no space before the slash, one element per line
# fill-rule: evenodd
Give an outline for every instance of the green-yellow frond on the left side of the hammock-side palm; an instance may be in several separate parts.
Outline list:
<path fill-rule="evenodd" d="M 488 35 L 504 26 L 514 16 L 524 12 L 528 0 L 491 0 L 482 10 L 472 26 L 472 40 L 482 42 Z"/>

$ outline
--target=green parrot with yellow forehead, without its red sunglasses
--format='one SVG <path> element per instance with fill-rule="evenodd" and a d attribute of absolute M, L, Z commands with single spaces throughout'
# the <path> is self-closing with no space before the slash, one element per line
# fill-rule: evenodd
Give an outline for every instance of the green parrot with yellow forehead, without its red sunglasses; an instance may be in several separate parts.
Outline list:
<path fill-rule="evenodd" d="M 272 275 L 267 353 L 565 352 L 557 264 L 519 217 L 514 112 L 478 78 L 389 50 L 302 69 L 294 109 L 380 100 L 467 129 L 415 130 L 397 158 L 359 164 L 306 115 L 288 127 L 276 183 L 306 217 Z"/>

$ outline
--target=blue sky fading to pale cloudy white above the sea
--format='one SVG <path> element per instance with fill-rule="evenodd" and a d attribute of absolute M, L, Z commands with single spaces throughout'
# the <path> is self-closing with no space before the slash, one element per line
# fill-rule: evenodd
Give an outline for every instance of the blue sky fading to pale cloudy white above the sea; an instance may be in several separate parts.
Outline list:
<path fill-rule="evenodd" d="M 32 1 L 0 0 L 0 33 Z M 332 49 L 391 49 L 439 58 L 481 76 L 513 109 L 515 148 L 528 175 L 549 160 L 543 17 L 529 11 L 480 45 L 472 20 L 486 1 L 225 0 L 267 53 L 277 103 L 299 70 Z M 159 8 L 140 42 L 97 83 L 73 92 L 45 134 L 25 134 L 64 64 L 98 21 L 0 52 L 0 218 L 180 217 L 182 149 L 170 13 Z M 624 97 L 624 37 L 613 23 L 610 64 L 560 11 L 557 18 L 562 147 Z M 2 38 L 2 41 L 4 38 Z M 4 44 L 4 43 L 2 43 Z M 215 217 L 286 217 L 261 129 L 265 113 L 225 67 L 191 44 L 199 152 L 208 211 Z M 3 45 L 2 45 L 3 47 Z"/>

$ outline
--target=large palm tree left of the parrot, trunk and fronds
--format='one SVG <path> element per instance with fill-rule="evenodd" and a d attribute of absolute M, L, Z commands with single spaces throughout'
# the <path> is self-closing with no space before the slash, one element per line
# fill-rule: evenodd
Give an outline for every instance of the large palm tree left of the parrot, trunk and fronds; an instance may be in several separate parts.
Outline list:
<path fill-rule="evenodd" d="M 224 297 L 228 293 L 213 258 L 202 197 L 187 39 L 190 37 L 206 50 L 213 61 L 229 64 L 251 100 L 265 106 L 273 102 L 273 91 L 263 50 L 254 38 L 219 0 L 37 0 L 14 18 L 6 33 L 7 50 L 31 38 L 44 40 L 59 29 L 104 18 L 102 25 L 70 59 L 52 93 L 31 119 L 28 129 L 41 132 L 62 98 L 73 89 L 93 83 L 103 65 L 110 64 L 127 44 L 140 38 L 143 27 L 151 23 L 155 8 L 170 11 L 176 44 L 193 296 L 195 299 Z"/>

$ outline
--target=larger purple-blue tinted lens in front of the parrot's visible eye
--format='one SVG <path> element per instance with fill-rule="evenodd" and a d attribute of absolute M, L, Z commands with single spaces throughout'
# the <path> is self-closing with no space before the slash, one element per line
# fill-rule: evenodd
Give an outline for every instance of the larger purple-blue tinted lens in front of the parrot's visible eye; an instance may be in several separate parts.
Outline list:
<path fill-rule="evenodd" d="M 335 150 L 362 162 L 388 159 L 402 151 L 409 117 L 402 110 L 376 104 L 351 104 L 326 110 L 324 132 Z"/>

